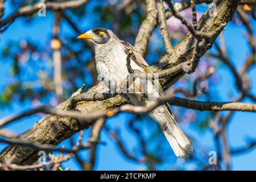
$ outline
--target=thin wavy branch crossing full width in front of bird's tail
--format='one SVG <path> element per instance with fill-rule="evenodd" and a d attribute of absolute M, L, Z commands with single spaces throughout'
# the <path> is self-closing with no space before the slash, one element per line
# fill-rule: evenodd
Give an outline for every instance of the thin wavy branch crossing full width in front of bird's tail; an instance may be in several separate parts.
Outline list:
<path fill-rule="evenodd" d="M 149 106 L 133 106 L 133 105 L 122 105 L 117 108 L 109 109 L 109 110 L 99 110 L 94 111 L 88 114 L 82 114 L 80 111 L 72 111 L 72 110 L 57 110 L 57 109 L 49 109 L 48 107 L 39 107 L 34 109 L 31 113 L 41 112 L 46 114 L 59 115 L 60 117 L 71 117 L 79 120 L 82 126 L 90 125 L 91 121 L 94 119 L 98 119 L 101 117 L 112 117 L 118 113 L 129 112 L 129 113 L 147 113 L 156 107 L 169 102 L 171 105 L 182 106 L 189 109 L 195 110 L 209 110 L 209 111 L 249 111 L 256 112 L 256 105 L 242 102 L 201 102 L 201 101 L 193 101 L 185 98 L 172 97 L 173 91 L 171 90 L 165 96 L 159 97 Z M 27 112 L 25 112 L 27 113 Z M 21 113 L 16 116 L 16 118 L 21 118 L 21 116 L 26 115 Z M 7 119 L 3 119 L 3 121 L 8 121 Z"/>

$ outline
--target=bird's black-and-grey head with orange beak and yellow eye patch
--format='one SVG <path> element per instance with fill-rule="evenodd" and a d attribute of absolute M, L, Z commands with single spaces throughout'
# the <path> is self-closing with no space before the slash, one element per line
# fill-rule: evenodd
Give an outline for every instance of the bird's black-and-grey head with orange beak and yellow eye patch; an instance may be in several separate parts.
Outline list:
<path fill-rule="evenodd" d="M 106 44 L 112 38 L 113 32 L 107 28 L 94 28 L 80 35 L 79 39 L 88 40 L 93 46 Z"/>

